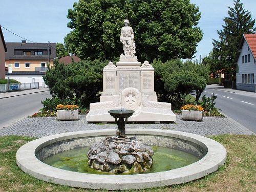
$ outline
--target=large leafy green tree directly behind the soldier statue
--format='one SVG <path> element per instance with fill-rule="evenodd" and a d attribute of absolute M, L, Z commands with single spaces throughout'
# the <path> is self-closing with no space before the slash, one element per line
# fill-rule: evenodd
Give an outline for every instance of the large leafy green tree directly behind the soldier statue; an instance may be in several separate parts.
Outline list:
<path fill-rule="evenodd" d="M 202 39 L 198 7 L 189 0 L 79 0 L 69 9 L 69 52 L 82 59 L 113 59 L 122 53 L 120 29 L 129 19 L 139 59 L 193 58 Z"/>

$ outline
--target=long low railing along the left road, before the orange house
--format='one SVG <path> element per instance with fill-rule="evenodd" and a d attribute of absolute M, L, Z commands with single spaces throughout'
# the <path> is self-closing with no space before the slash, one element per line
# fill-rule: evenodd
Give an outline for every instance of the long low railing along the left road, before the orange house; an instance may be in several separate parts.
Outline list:
<path fill-rule="evenodd" d="M 0 92 L 39 89 L 39 82 L 0 84 Z"/>

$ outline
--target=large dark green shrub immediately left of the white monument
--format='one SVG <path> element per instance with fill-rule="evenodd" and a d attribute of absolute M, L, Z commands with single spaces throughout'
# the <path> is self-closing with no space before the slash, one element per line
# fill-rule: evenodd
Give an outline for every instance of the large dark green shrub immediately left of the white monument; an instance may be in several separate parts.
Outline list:
<path fill-rule="evenodd" d="M 91 102 L 99 101 L 103 84 L 102 69 L 108 62 L 84 60 L 65 66 L 55 61 L 43 79 L 53 97 L 70 99 L 73 104 L 87 108 Z"/>

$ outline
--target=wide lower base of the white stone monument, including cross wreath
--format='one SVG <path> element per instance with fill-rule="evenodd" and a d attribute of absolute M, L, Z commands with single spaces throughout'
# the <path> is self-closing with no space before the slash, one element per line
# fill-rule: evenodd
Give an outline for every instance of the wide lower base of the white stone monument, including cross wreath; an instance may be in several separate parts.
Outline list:
<path fill-rule="evenodd" d="M 102 101 L 103 99 L 106 101 Z M 129 117 L 128 122 L 175 121 L 176 115 L 171 110 L 172 105 L 156 100 L 157 96 L 142 95 L 135 88 L 126 88 L 120 95 L 102 96 L 101 102 L 91 103 L 86 120 L 88 122 L 114 122 L 115 119 L 108 111 L 124 108 L 135 111 Z"/>

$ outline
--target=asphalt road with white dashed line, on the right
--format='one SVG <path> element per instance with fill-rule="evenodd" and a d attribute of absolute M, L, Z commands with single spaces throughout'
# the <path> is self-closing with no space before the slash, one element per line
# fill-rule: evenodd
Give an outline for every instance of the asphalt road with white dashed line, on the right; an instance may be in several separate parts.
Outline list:
<path fill-rule="evenodd" d="M 216 108 L 256 133 L 256 97 L 207 88 L 202 96 L 212 93 L 217 95 Z"/>

